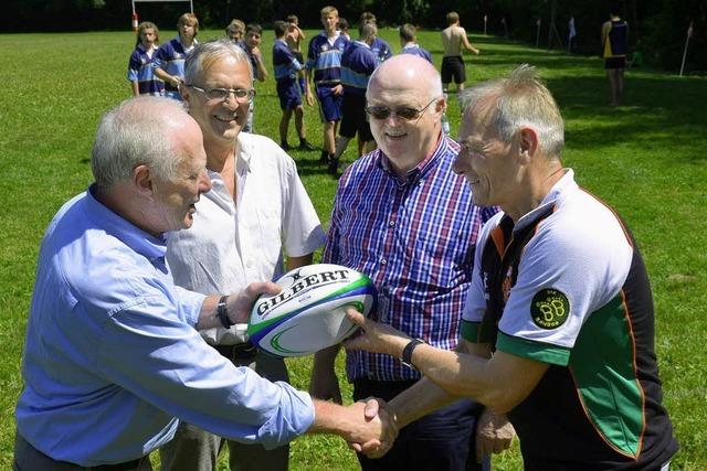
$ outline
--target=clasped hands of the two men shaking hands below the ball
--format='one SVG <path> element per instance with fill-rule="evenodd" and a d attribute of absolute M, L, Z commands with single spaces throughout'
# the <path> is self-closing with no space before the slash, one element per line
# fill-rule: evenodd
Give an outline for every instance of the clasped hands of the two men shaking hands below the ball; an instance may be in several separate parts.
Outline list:
<path fill-rule="evenodd" d="M 355 451 L 380 458 L 398 437 L 398 424 L 382 399 L 369 398 L 346 407 L 315 400 L 315 421 L 308 432 L 339 435 Z"/>

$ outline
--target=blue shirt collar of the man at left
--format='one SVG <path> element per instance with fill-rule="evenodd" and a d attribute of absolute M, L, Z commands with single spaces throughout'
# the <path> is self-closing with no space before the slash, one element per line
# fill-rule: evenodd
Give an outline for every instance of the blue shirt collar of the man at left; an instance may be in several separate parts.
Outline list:
<path fill-rule="evenodd" d="M 163 235 L 155 237 L 114 213 L 94 196 L 95 183 L 86 192 L 86 212 L 97 226 L 116 237 L 137 254 L 152 260 L 165 257 L 167 245 Z"/>

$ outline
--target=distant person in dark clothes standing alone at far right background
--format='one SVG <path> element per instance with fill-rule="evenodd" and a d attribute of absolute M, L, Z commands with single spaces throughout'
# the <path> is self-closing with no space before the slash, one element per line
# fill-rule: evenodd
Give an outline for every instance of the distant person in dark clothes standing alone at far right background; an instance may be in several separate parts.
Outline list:
<path fill-rule="evenodd" d="M 623 69 L 626 67 L 629 23 L 621 19 L 619 8 L 609 13 L 609 21 L 601 26 L 601 42 L 604 47 L 604 68 L 611 87 L 610 106 L 621 105 L 623 98 Z"/>

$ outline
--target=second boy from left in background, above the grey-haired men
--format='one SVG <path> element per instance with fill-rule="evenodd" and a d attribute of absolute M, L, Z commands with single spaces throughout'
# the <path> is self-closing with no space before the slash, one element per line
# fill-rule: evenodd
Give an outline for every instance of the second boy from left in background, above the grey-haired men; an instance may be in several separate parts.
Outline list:
<path fill-rule="evenodd" d="M 179 86 L 184 81 L 184 58 L 197 45 L 199 20 L 184 13 L 177 20 L 179 35 L 162 44 L 155 58 L 155 75 L 165 81 L 165 96 L 181 100 Z"/>

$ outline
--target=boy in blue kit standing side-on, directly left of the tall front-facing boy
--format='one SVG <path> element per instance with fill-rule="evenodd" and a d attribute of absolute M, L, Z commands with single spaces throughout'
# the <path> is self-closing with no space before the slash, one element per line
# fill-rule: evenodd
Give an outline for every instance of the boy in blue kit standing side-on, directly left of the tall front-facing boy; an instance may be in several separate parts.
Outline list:
<path fill-rule="evenodd" d="M 279 120 L 279 147 L 289 150 L 287 143 L 287 128 L 289 127 L 289 118 L 295 113 L 295 128 L 299 136 L 300 150 L 314 150 L 314 147 L 307 142 L 305 130 L 305 110 L 302 106 L 302 92 L 297 84 L 299 72 L 304 68 L 303 64 L 297 61 L 295 54 L 287 46 L 285 36 L 288 31 L 288 24 L 285 21 L 275 21 L 275 43 L 273 44 L 273 69 L 275 73 L 275 82 L 277 83 L 277 96 L 279 97 L 279 108 L 283 110 L 283 117 Z"/>

